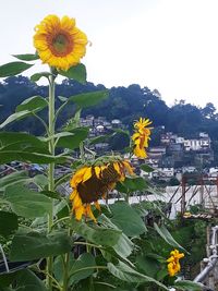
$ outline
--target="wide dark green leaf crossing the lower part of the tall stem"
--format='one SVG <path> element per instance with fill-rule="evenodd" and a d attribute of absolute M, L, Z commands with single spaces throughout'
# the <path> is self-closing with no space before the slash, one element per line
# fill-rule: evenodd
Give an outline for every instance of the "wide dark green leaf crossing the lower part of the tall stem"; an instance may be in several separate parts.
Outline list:
<path fill-rule="evenodd" d="M 61 255 L 70 252 L 71 247 L 71 240 L 64 231 L 51 232 L 48 235 L 39 232 L 15 234 L 12 240 L 10 259 L 22 262 Z"/>

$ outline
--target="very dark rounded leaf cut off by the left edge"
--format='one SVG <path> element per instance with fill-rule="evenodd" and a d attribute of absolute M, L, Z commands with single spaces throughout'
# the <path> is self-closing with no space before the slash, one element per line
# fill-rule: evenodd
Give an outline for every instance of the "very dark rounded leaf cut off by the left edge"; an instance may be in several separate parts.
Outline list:
<path fill-rule="evenodd" d="M 0 235 L 7 237 L 19 228 L 17 216 L 13 213 L 0 211 Z"/>

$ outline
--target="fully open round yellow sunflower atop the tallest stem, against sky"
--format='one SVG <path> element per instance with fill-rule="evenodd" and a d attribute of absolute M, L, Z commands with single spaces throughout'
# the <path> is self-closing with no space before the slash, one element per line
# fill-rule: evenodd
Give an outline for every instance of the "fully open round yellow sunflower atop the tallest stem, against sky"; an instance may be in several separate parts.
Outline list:
<path fill-rule="evenodd" d="M 87 37 L 69 16 L 46 16 L 35 27 L 34 46 L 43 63 L 69 70 L 85 56 Z"/>

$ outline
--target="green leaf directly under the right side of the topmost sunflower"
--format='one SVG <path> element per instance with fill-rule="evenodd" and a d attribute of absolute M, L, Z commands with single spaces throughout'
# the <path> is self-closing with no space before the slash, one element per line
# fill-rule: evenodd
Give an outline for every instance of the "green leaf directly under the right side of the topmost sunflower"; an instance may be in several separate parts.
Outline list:
<path fill-rule="evenodd" d="M 68 71 L 58 71 L 60 75 L 73 78 L 81 84 L 86 83 L 86 68 L 83 63 L 71 66 Z"/>

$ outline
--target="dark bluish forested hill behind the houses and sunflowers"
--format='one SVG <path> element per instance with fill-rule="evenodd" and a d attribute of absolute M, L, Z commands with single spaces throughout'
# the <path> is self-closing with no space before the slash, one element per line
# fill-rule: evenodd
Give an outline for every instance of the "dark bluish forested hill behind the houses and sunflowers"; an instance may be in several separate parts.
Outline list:
<path fill-rule="evenodd" d="M 101 84 L 94 85 L 89 82 L 82 85 L 74 81 L 63 80 L 61 84 L 57 85 L 56 92 L 58 96 L 69 97 L 99 89 L 105 89 L 105 86 Z M 36 95 L 47 97 L 47 86 L 38 86 L 24 76 L 5 78 L 0 83 L 0 122 L 14 112 L 20 102 Z M 60 106 L 59 101 L 57 101 L 57 106 Z M 61 126 L 69 118 L 72 118 L 73 113 L 73 105 L 70 105 L 60 116 L 58 125 Z M 47 116 L 46 112 L 41 114 Z M 180 100 L 172 107 L 168 107 L 157 90 L 152 92 L 148 87 L 142 88 L 137 84 L 129 87 L 110 88 L 109 98 L 99 106 L 83 111 L 83 116 L 86 114 L 105 116 L 108 120 L 120 119 L 130 129 L 135 119 L 147 117 L 153 120 L 155 128 L 165 125 L 167 131 L 172 131 L 185 137 L 193 137 L 198 132 L 204 131 L 213 140 L 218 140 L 218 114 L 211 102 L 208 102 L 205 108 L 198 108 Z M 41 131 L 38 122 L 33 118 L 10 124 L 8 128 L 8 130 L 14 131 L 26 131 L 26 129 L 35 134 Z"/>

